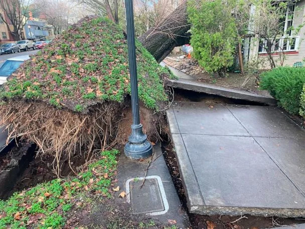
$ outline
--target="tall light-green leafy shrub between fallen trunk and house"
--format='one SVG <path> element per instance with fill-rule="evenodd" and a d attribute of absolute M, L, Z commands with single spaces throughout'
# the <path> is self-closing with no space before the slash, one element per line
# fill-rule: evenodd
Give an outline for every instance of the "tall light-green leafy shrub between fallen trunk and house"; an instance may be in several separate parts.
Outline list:
<path fill-rule="evenodd" d="M 221 77 L 225 76 L 226 69 L 233 64 L 236 49 L 233 1 L 188 2 L 194 57 L 207 72 L 218 72 Z"/>

